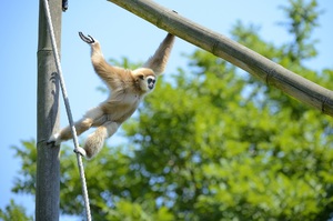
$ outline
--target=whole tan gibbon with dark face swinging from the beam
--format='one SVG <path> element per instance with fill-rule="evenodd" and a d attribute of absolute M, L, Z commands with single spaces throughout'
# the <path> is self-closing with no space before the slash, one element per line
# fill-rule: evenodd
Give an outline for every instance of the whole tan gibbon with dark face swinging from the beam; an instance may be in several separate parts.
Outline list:
<path fill-rule="evenodd" d="M 95 39 L 91 36 L 85 37 L 82 32 L 79 32 L 79 36 L 91 47 L 91 61 L 94 71 L 110 89 L 109 98 L 89 110 L 74 124 L 78 135 L 91 127 L 97 128 L 93 133 L 88 135 L 84 147 L 78 150 L 83 157 L 91 159 L 101 150 L 104 140 L 111 137 L 132 115 L 143 97 L 154 89 L 157 77 L 165 69 L 174 36 L 168 33 L 155 53 L 148 59 L 142 68 L 135 70 L 109 64 L 102 54 L 100 43 Z M 71 129 L 68 125 L 51 135 L 48 143 L 58 145 L 71 138 Z"/>

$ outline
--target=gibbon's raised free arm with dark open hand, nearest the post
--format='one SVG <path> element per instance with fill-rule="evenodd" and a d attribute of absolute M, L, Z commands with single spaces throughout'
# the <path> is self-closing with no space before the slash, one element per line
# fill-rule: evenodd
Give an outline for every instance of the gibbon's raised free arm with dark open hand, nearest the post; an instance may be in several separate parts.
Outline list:
<path fill-rule="evenodd" d="M 111 88 L 114 88 L 120 79 L 127 78 L 128 71 L 123 68 L 113 67 L 108 63 L 103 57 L 100 43 L 91 36 L 85 37 L 79 32 L 80 38 L 91 47 L 91 62 L 94 71 L 103 79 Z"/>

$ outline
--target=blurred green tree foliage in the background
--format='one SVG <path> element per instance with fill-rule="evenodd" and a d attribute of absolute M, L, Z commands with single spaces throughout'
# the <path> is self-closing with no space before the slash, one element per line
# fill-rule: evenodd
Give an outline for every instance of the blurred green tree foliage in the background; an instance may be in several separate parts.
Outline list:
<path fill-rule="evenodd" d="M 304 66 L 316 56 L 316 2 L 290 0 L 283 10 L 293 42 L 274 46 L 241 22 L 232 37 L 332 88 L 333 70 Z M 123 125 L 131 144 L 85 162 L 93 220 L 327 220 L 331 119 L 208 52 L 189 60 Z M 36 148 L 23 145 L 13 190 L 33 194 Z M 82 214 L 75 158 L 63 149 L 61 159 L 61 210 Z"/>

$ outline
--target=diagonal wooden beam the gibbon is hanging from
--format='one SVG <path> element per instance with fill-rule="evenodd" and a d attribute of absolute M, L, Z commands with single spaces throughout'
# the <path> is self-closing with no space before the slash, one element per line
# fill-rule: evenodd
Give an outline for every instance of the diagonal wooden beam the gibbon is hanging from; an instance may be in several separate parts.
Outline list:
<path fill-rule="evenodd" d="M 333 117 L 327 90 L 226 37 L 181 17 L 151 0 L 108 0 L 179 38 L 248 71 L 269 86 Z"/>

